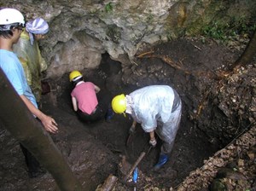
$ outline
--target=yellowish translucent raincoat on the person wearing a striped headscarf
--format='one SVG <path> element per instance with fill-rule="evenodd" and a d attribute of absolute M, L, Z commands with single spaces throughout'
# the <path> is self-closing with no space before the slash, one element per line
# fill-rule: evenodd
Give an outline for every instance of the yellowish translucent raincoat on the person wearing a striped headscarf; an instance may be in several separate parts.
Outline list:
<path fill-rule="evenodd" d="M 29 36 L 22 32 L 20 40 L 14 45 L 14 52 L 19 57 L 24 69 L 27 84 L 31 86 L 32 93 L 39 102 L 41 99 L 41 72 L 47 69 L 47 64 L 42 58 L 38 42 L 30 43 Z"/>

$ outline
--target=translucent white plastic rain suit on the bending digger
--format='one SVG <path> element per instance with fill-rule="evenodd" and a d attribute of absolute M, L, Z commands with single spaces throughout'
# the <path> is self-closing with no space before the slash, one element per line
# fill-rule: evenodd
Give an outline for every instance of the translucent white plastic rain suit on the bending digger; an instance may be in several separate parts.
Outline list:
<path fill-rule="evenodd" d="M 167 85 L 151 85 L 131 94 L 131 116 L 150 132 L 156 130 L 160 138 L 168 143 L 175 139 L 181 118 L 181 101 L 175 98 L 174 91 Z M 173 101 L 177 99 L 180 103 L 177 110 L 172 112 Z"/>

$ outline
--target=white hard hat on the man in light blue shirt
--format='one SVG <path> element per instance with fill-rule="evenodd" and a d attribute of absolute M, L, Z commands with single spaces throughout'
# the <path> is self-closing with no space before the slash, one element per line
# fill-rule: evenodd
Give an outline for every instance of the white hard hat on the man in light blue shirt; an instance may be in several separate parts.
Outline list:
<path fill-rule="evenodd" d="M 25 25 L 24 16 L 17 9 L 1 9 L 0 10 L 0 25 L 10 25 L 14 23 L 19 23 L 20 25 Z"/>

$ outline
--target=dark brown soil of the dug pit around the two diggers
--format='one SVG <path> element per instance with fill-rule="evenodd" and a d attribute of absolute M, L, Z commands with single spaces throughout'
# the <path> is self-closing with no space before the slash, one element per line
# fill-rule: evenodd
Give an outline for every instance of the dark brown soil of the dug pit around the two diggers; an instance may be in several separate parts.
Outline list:
<path fill-rule="evenodd" d="M 204 160 L 223 148 L 232 138 L 219 139 L 221 134 L 216 135 L 212 129 L 212 134 L 211 130 L 206 131 L 204 124 L 211 126 L 218 120 L 222 125 L 226 123 L 227 117 L 214 109 L 214 104 L 212 107 L 201 108 L 201 113 L 198 106 L 204 101 L 206 90 L 214 81 L 209 78 L 212 71 L 223 67 L 226 61 L 235 61 L 238 55 L 215 43 L 203 44 L 187 40 L 159 44 L 144 49 L 143 53 L 147 54 L 138 54 L 135 64 L 131 66 L 124 66 L 118 61 L 112 61 L 108 55 L 103 55 L 100 67 L 84 70 L 83 73 L 85 80 L 101 87 L 102 96 L 127 94 L 150 84 L 169 84 L 177 90 L 183 101 L 183 114 L 170 160 L 160 171 L 151 171 L 160 152 L 159 142 L 138 165 L 139 178 L 136 185 L 137 190 L 150 187 L 175 188 L 189 176 L 190 171 L 203 165 Z M 116 190 L 133 190 L 135 185 L 131 178 L 128 182 L 122 182 L 121 179 L 124 172 L 127 173 L 125 168 L 131 168 L 140 153 L 147 151 L 148 135 L 137 124 L 136 134 L 126 146 L 132 122 L 129 117 L 115 115 L 110 123 L 104 119 L 90 124 L 80 122 L 72 109 L 72 86 L 68 74 L 59 79 L 49 79 L 48 82 L 51 92 L 43 96 L 42 110 L 52 115 L 59 124 L 60 133 L 52 135 L 52 138 L 67 158 L 84 190 L 96 190 L 110 174 L 119 177 Z M 206 99 L 212 101 L 211 96 Z M 206 108 L 215 114 L 208 115 Z M 27 177 L 19 143 L 3 127 L 1 144 L 0 190 L 57 190 L 48 173 L 33 179 Z"/>

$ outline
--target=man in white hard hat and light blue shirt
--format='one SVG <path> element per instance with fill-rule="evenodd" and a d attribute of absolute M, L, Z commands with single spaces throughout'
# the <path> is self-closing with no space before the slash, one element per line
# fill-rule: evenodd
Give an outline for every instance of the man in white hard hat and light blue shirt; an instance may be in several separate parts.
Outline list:
<path fill-rule="evenodd" d="M 35 120 L 40 120 L 45 130 L 56 133 L 58 128 L 55 119 L 38 109 L 35 96 L 26 82 L 23 67 L 13 52 L 13 44 L 18 42 L 24 27 L 24 16 L 19 10 L 10 8 L 0 10 L 0 67 Z M 38 177 L 41 171 L 37 159 L 21 144 L 20 147 L 25 155 L 30 177 Z"/>

